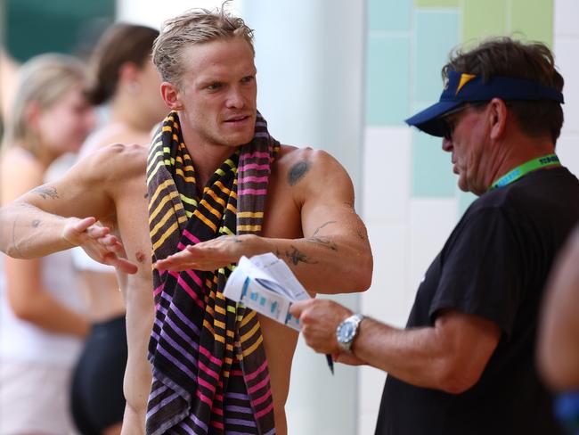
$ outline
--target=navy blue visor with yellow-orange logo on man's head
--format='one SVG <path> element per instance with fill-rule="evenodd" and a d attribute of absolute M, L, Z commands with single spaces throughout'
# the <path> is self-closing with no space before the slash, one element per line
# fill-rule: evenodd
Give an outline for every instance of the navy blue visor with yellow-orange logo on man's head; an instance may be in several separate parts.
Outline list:
<path fill-rule="evenodd" d="M 419 128 L 428 135 L 443 136 L 444 120 L 447 111 L 452 111 L 462 103 L 490 101 L 493 98 L 510 100 L 554 100 L 563 102 L 563 94 L 557 89 L 539 85 L 531 80 L 514 77 L 494 76 L 483 82 L 474 74 L 448 71 L 440 100 L 409 119 L 406 124 Z"/>

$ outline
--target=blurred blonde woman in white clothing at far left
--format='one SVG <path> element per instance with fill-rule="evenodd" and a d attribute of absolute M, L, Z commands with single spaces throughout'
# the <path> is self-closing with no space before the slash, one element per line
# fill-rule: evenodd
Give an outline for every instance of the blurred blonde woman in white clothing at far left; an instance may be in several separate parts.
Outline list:
<path fill-rule="evenodd" d="M 66 55 L 22 66 L 0 154 L 0 203 L 41 185 L 53 160 L 77 152 L 94 126 L 84 86 L 83 64 Z M 88 331 L 82 301 L 70 289 L 72 261 L 68 253 L 0 259 L 0 433 L 67 433 L 71 367 Z"/>

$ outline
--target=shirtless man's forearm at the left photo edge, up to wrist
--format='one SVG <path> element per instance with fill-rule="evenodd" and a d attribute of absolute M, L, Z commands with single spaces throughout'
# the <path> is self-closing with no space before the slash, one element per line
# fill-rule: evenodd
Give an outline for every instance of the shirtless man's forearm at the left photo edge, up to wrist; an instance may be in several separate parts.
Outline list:
<path fill-rule="evenodd" d="M 66 218 L 26 202 L 0 208 L 0 250 L 15 259 L 34 259 L 73 245 L 62 237 Z"/>

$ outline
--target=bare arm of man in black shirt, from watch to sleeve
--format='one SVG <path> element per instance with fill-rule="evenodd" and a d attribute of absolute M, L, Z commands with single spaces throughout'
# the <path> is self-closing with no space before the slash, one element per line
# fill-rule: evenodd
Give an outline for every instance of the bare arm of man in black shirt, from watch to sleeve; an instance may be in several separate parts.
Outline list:
<path fill-rule="evenodd" d="M 404 382 L 461 393 L 478 381 L 501 334 L 488 319 L 447 310 L 433 326 L 415 329 L 364 320 L 353 349 L 356 357 Z"/>

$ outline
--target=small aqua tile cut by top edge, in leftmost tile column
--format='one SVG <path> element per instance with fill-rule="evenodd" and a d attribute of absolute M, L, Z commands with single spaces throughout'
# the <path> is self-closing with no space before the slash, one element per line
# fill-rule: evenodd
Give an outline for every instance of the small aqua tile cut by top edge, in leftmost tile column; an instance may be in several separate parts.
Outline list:
<path fill-rule="evenodd" d="M 369 0 L 370 30 L 401 31 L 410 29 L 412 0 Z"/>

